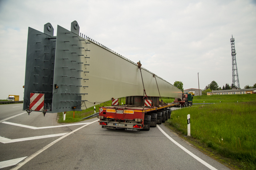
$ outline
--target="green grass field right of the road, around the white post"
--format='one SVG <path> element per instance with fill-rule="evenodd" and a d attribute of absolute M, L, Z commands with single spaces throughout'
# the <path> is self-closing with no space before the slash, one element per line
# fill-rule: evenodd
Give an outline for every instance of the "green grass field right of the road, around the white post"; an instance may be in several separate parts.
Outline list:
<path fill-rule="evenodd" d="M 250 99 L 251 96 L 245 97 Z M 233 99 L 226 98 L 226 100 Z M 174 110 L 172 118 L 167 123 L 187 135 L 188 114 L 190 114 L 191 137 L 200 140 L 222 156 L 236 160 L 241 169 L 255 169 L 256 100 Z"/>

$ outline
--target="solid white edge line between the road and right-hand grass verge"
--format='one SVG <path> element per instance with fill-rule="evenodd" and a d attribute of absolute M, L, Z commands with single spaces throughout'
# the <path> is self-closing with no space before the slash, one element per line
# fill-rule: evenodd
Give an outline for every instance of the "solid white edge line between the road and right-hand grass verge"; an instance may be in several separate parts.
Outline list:
<path fill-rule="evenodd" d="M 199 162 L 201 162 L 204 166 L 208 167 L 209 169 L 212 170 L 217 170 L 216 168 L 214 168 L 213 166 L 211 166 L 210 164 L 208 164 L 207 162 L 205 162 L 204 160 L 202 160 L 201 158 L 199 158 L 198 156 L 196 156 L 195 154 L 193 154 L 192 152 L 188 151 L 186 148 L 184 148 L 183 146 L 181 146 L 178 142 L 176 142 L 174 139 L 172 139 L 169 135 L 167 135 L 167 133 L 164 132 L 163 129 L 161 129 L 159 127 L 159 125 L 156 125 L 157 128 L 168 138 L 170 139 L 174 144 L 176 144 L 177 146 L 179 146 L 183 151 L 187 152 L 190 156 L 192 156 L 193 158 L 195 158 L 196 160 L 198 160 Z"/>

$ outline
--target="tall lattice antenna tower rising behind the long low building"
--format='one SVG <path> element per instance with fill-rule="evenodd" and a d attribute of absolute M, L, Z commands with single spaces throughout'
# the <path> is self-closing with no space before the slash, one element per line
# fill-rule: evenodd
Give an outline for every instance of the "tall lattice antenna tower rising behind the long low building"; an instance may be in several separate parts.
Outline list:
<path fill-rule="evenodd" d="M 230 39 L 231 42 L 231 55 L 232 55 L 232 84 L 236 86 L 236 88 L 240 89 L 237 65 L 236 65 L 236 49 L 235 49 L 235 39 Z"/>

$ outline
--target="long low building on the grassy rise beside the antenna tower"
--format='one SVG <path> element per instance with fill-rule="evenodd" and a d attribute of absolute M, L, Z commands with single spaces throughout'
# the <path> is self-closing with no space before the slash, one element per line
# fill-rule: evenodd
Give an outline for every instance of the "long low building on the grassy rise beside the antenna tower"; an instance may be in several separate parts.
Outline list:
<path fill-rule="evenodd" d="M 252 94 L 252 93 L 256 93 L 256 88 L 252 88 L 252 89 L 231 89 L 231 90 L 213 90 L 212 94 L 210 94 L 211 92 L 209 92 L 209 94 L 207 93 L 207 95 L 224 95 L 224 94 Z"/>

